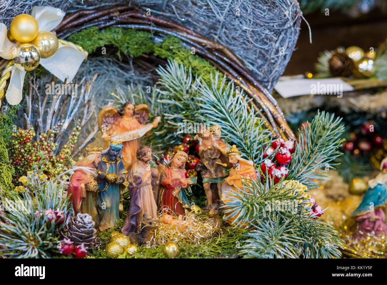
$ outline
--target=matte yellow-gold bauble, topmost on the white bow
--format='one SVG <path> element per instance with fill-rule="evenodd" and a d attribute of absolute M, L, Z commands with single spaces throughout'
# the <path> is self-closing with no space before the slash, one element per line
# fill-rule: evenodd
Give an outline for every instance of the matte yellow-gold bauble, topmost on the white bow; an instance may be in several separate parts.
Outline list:
<path fill-rule="evenodd" d="M 38 35 L 38 22 L 28 14 L 20 14 L 14 17 L 9 27 L 15 40 L 21 43 L 28 43 Z"/>

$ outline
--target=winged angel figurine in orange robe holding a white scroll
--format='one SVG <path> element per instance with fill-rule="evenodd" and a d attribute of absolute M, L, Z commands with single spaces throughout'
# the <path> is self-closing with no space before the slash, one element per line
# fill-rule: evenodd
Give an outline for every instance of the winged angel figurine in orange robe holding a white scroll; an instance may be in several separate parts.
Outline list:
<path fill-rule="evenodd" d="M 122 162 L 125 169 L 130 170 L 136 161 L 136 152 L 140 145 L 140 138 L 149 136 L 149 131 L 156 128 L 160 117 L 156 117 L 150 124 L 145 124 L 149 117 L 149 107 L 146 104 L 135 106 L 133 102 L 125 102 L 121 107 L 108 105 L 98 115 L 99 128 L 106 147 L 110 140 L 122 142 Z"/>

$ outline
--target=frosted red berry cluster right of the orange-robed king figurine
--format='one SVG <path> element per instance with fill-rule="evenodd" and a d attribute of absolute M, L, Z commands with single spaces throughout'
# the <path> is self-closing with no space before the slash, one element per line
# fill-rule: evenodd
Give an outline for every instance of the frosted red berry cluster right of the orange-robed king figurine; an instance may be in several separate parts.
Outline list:
<path fill-rule="evenodd" d="M 274 184 L 278 183 L 283 176 L 287 177 L 289 169 L 286 167 L 291 162 L 291 154 L 295 151 L 295 141 L 278 138 L 271 143 L 267 148 L 263 157 L 265 161 L 261 165 L 263 174 L 260 174 L 261 181 L 267 174 L 274 180 Z M 274 157 L 274 162 L 267 157 Z M 275 164 L 276 163 L 276 164 Z"/>

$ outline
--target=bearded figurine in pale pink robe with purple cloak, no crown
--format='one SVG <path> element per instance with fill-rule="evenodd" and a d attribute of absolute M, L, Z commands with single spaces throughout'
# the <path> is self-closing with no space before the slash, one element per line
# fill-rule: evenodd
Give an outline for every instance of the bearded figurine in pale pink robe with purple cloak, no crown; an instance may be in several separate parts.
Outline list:
<path fill-rule="evenodd" d="M 157 217 L 152 180 L 159 179 L 161 172 L 165 169 L 164 164 L 159 164 L 157 168 L 151 167 L 152 150 L 146 145 L 139 147 L 136 155 L 137 161 L 134 162 L 127 176 L 130 206 L 122 228 L 125 235 L 141 231 L 141 219 L 144 214 L 147 217 Z"/>

